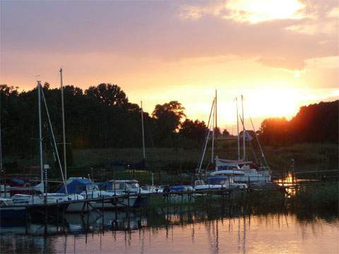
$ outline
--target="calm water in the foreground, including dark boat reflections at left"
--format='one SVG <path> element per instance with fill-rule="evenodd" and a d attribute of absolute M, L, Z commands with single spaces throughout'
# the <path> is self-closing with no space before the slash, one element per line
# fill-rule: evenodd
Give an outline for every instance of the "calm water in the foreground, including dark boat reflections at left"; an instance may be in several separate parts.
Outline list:
<path fill-rule="evenodd" d="M 1 253 L 338 253 L 338 217 L 158 211 L 1 224 Z"/>

